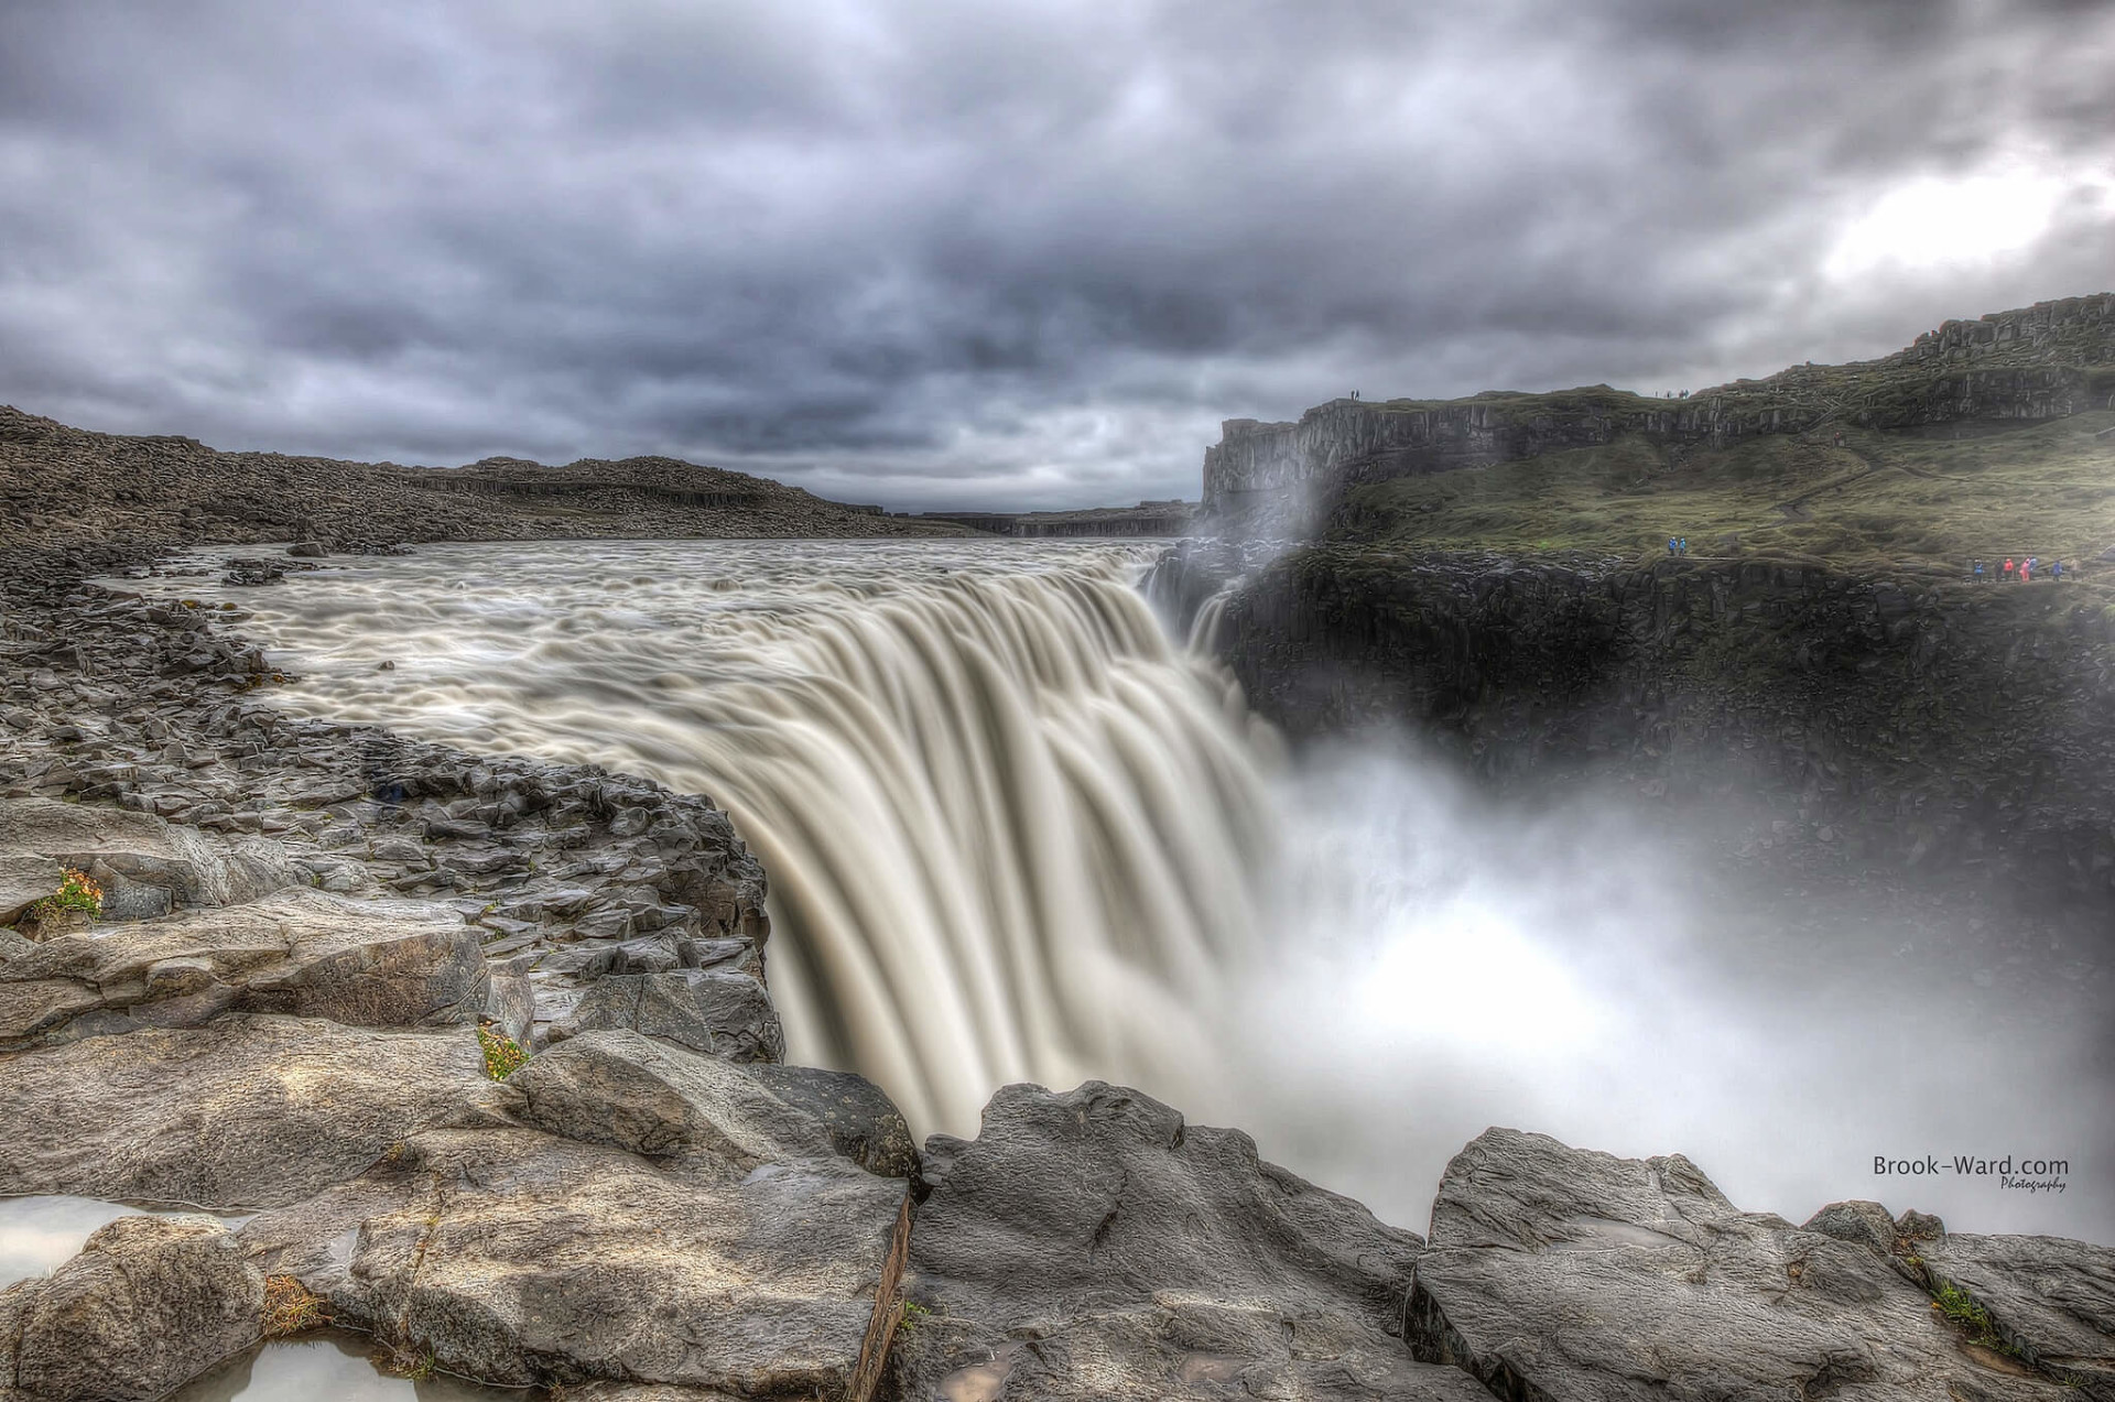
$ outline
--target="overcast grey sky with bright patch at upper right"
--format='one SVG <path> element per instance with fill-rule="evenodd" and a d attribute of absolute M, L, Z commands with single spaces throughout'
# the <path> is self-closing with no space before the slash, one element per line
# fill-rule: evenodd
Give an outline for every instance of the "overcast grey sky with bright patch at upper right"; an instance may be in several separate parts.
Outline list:
<path fill-rule="evenodd" d="M 220 448 L 1123 503 L 2102 290 L 2104 0 L 0 0 L 0 402 Z"/>

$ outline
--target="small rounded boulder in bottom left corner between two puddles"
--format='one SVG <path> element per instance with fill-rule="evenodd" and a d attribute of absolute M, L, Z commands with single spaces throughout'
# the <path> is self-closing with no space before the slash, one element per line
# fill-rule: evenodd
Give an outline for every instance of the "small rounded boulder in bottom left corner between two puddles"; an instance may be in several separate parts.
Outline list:
<path fill-rule="evenodd" d="M 0 1292 L 0 1396 L 148 1402 L 262 1336 L 264 1275 L 207 1216 L 118 1218 Z"/>

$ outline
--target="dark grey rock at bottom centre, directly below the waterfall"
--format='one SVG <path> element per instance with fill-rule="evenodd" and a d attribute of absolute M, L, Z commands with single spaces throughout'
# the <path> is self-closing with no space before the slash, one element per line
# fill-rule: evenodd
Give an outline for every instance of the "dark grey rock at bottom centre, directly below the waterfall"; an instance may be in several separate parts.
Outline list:
<path fill-rule="evenodd" d="M 926 1140 L 897 1396 L 1489 1402 L 1400 1339 L 1415 1233 L 1138 1091 L 1011 1085 Z"/>

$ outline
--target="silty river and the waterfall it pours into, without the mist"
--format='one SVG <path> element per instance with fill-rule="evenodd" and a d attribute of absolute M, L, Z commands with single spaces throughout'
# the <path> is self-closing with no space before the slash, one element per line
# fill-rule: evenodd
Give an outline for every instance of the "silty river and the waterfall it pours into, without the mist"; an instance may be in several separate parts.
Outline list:
<path fill-rule="evenodd" d="M 1273 749 L 1165 639 L 1144 552 L 812 550 L 444 548 L 243 603 L 328 672 L 292 704 L 713 795 L 770 873 L 795 1055 L 920 1129 L 1009 1081 L 1208 1095 Z"/>

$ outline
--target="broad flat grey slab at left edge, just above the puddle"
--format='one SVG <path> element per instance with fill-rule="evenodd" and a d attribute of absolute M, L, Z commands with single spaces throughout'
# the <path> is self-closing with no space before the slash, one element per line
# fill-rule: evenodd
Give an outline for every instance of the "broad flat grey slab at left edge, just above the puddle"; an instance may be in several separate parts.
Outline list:
<path fill-rule="evenodd" d="M 277 1207 L 429 1125 L 501 1123 L 470 1028 L 231 1015 L 0 1055 L 0 1193 Z"/>

